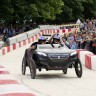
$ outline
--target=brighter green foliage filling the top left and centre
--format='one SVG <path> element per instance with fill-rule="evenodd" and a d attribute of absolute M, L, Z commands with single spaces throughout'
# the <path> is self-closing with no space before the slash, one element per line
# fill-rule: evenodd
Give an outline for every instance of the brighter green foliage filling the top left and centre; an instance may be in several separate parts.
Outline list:
<path fill-rule="evenodd" d="M 5 23 L 56 18 L 62 12 L 62 0 L 2 0 L 0 1 L 0 20 Z"/>

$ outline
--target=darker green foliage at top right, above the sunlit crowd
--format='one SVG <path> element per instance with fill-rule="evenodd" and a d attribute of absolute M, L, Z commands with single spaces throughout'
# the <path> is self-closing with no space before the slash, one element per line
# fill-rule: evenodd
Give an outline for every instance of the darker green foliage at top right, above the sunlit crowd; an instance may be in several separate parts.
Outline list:
<path fill-rule="evenodd" d="M 55 22 L 76 22 L 81 20 L 96 17 L 96 0 L 62 0 L 64 6 L 62 13 L 57 15 Z"/>

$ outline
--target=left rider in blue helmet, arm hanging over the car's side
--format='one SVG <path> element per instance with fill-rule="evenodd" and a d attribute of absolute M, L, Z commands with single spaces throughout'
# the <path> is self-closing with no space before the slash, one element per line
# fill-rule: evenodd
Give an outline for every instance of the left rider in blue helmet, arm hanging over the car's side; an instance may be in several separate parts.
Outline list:
<path fill-rule="evenodd" d="M 38 44 L 46 44 L 46 38 L 44 36 L 41 36 L 38 39 L 38 42 L 34 42 L 30 48 L 26 49 L 25 51 L 25 56 L 27 56 L 28 58 L 32 58 L 32 52 L 34 52 L 34 50 L 37 48 Z"/>

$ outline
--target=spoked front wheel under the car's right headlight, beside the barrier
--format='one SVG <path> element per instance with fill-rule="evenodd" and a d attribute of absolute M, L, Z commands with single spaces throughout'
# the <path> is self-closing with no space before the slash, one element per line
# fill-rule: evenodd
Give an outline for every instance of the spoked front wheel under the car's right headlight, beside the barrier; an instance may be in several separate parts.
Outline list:
<path fill-rule="evenodd" d="M 82 77 L 82 64 L 80 62 L 80 60 L 78 59 L 76 62 L 75 62 L 75 72 L 76 72 L 76 75 L 81 78 Z"/>

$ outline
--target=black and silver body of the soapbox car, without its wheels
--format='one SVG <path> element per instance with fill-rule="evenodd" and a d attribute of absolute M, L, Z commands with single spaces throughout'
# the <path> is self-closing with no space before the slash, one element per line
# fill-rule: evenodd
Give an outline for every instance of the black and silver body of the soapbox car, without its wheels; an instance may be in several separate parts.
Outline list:
<path fill-rule="evenodd" d="M 46 68 L 47 70 L 67 69 L 72 62 L 78 58 L 77 52 L 70 50 L 66 45 L 59 47 L 59 44 L 38 45 L 33 53 L 33 60 L 37 68 Z M 72 53 L 75 53 L 72 55 Z"/>

